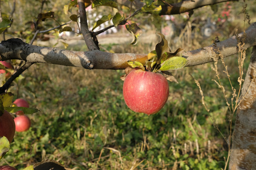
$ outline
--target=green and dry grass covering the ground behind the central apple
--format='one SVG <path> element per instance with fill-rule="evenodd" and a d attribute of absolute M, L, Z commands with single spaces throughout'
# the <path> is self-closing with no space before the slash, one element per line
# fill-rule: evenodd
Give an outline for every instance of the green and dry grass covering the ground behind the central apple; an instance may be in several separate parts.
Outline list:
<path fill-rule="evenodd" d="M 184 45 L 187 38 L 182 38 L 180 44 Z M 211 44 L 210 39 L 202 43 L 191 39 L 191 42 L 192 46 L 187 48 Z M 101 49 L 147 53 L 154 46 L 108 44 Z M 171 42 L 170 46 L 175 49 L 178 44 Z M 76 49 L 72 47 L 71 50 Z M 233 86 L 238 88 L 236 59 L 237 55 L 231 56 L 225 62 Z M 248 62 L 249 57 L 245 72 Z M 122 70 L 35 64 L 10 91 L 16 98 L 27 99 L 30 106 L 40 112 L 29 115 L 32 127 L 27 132 L 16 133 L 11 150 L 0 160 L 0 165 L 9 164 L 21 170 L 52 159 L 64 164 L 67 170 L 224 168 L 228 144 L 223 136 L 230 135 L 229 121 L 234 117 L 229 117 L 225 97 L 212 81 L 216 79 L 212 66 L 208 63 L 174 71 L 179 84 L 169 83 L 170 93 L 164 108 L 147 116 L 126 106 L 122 96 L 123 82 L 119 78 L 124 74 Z M 232 96 L 229 80 L 222 72 L 221 63 L 218 67 L 229 99 Z M 199 88 L 191 75 L 200 82 L 210 112 L 202 105 Z"/>

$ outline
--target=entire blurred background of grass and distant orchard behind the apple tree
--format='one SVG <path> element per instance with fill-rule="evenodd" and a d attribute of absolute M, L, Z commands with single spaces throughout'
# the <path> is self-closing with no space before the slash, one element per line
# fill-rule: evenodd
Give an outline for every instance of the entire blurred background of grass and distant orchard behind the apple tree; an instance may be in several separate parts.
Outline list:
<path fill-rule="evenodd" d="M 6 39 L 22 38 L 29 42 L 41 11 L 42 0 L 15 0 L 13 25 L 5 33 Z M 13 0 L 1 1 L 7 17 Z M 46 19 L 42 30 L 69 21 L 63 12 L 68 0 L 46 0 L 42 13 L 54 11 L 55 19 Z M 247 12 L 255 22 L 256 1 L 247 0 Z M 174 16 L 139 14 L 129 20 L 143 30 L 139 42 L 131 46 L 132 37 L 122 27 L 116 33 L 105 33 L 99 42 L 102 51 L 116 53 L 148 53 L 165 34 L 172 51 L 185 48 L 195 50 L 212 44 L 218 36 L 225 40 L 243 31 L 243 2 L 225 2 L 214 7 L 195 9 Z M 73 8 L 72 14 L 76 14 Z M 126 16 L 129 9 L 123 8 Z M 93 8 L 90 13 L 115 13 L 109 7 Z M 95 18 L 89 18 L 94 23 Z M 94 22 L 91 22 L 93 20 Z M 111 23 L 110 23 L 111 24 Z M 245 27 L 249 24 L 246 22 Z M 70 26 L 74 26 L 72 23 Z M 86 51 L 79 34 L 59 36 L 58 29 L 48 32 L 47 41 L 39 36 L 35 45 L 57 46 L 67 50 Z M 3 37 L 0 37 L 3 40 Z M 63 43 L 57 43 L 63 42 Z M 102 43 L 101 43 L 102 42 Z M 247 50 L 246 72 L 251 49 Z M 230 78 L 238 88 L 238 55 L 225 59 Z M 15 61 L 12 61 L 15 63 Z M 212 63 L 183 68 L 173 72 L 179 84 L 170 83 L 170 94 L 164 108 L 147 116 L 128 109 L 122 96 L 120 76 L 123 70 L 85 70 L 50 64 L 34 64 L 9 89 L 15 98 L 26 99 L 40 113 L 28 115 L 32 127 L 27 132 L 16 132 L 11 150 L 0 160 L 0 165 L 11 165 L 18 170 L 36 162 L 53 159 L 67 170 L 217 170 L 224 168 L 228 147 L 219 131 L 228 137 L 230 113 L 218 85 Z M 219 63 L 221 82 L 232 97 L 229 80 Z M 201 84 L 207 112 L 201 104 L 201 94 L 192 76 Z M 234 121 L 233 121 L 234 122 Z"/>

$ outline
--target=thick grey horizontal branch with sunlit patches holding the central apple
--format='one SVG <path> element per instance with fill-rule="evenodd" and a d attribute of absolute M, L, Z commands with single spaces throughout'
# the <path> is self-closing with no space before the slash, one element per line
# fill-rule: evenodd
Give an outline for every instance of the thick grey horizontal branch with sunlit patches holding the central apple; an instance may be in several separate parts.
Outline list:
<path fill-rule="evenodd" d="M 244 49 L 256 45 L 256 22 L 251 24 L 247 31 Z M 238 34 L 241 37 L 243 33 Z M 217 42 L 216 45 L 183 52 L 188 60 L 186 66 L 195 66 L 213 61 L 216 51 L 223 57 L 236 54 L 237 39 L 235 36 Z M 27 44 L 20 39 L 9 39 L 0 43 L 0 60 L 21 59 L 29 63 L 50 63 L 64 66 L 73 66 L 86 69 L 125 69 L 128 60 L 137 60 L 145 64 L 147 54 L 109 53 L 94 51 L 69 51 L 58 48 L 39 47 Z"/>

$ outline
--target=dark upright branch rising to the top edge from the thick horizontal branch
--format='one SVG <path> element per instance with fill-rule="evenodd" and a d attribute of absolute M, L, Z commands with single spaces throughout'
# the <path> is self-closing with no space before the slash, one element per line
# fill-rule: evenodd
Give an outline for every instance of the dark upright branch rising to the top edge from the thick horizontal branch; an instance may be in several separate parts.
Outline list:
<path fill-rule="evenodd" d="M 96 43 L 93 41 L 91 37 L 91 32 L 89 31 L 89 28 L 88 28 L 84 0 L 77 0 L 77 2 L 79 6 L 80 25 L 81 25 L 81 33 L 82 33 L 83 39 L 90 51 L 100 50 L 99 47 L 96 45 Z"/>

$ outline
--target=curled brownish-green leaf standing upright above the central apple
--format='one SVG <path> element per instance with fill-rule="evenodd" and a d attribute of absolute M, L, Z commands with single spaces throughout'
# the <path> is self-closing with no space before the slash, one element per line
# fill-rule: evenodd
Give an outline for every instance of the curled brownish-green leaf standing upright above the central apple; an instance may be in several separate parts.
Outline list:
<path fill-rule="evenodd" d="M 163 34 L 159 34 L 161 36 L 161 42 L 157 43 L 155 45 L 155 51 L 157 54 L 157 64 L 161 63 L 162 59 L 166 58 L 166 53 L 165 52 L 170 52 L 170 48 L 168 46 L 168 42 L 165 39 L 165 36 Z"/>

